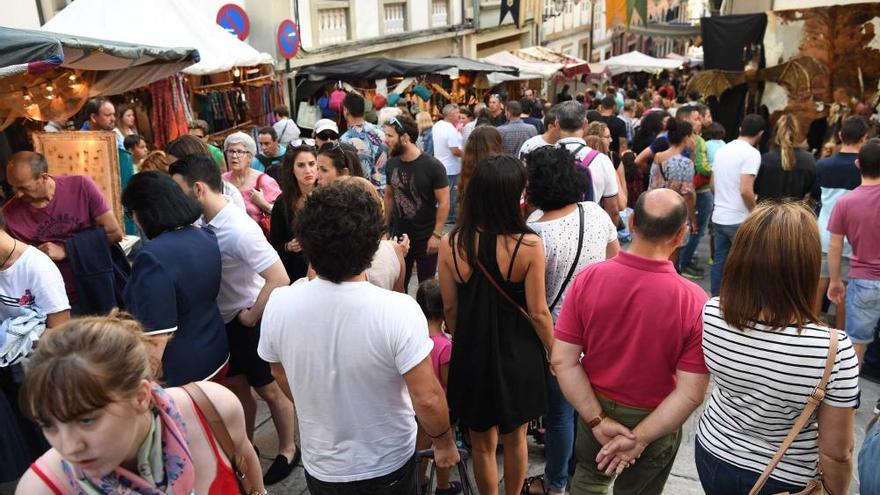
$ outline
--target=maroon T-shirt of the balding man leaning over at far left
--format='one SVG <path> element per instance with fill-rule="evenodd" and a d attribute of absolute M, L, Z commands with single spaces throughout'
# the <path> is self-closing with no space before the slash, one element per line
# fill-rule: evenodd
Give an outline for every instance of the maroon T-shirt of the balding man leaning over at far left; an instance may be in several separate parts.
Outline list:
<path fill-rule="evenodd" d="M 6 231 L 31 246 L 44 242 L 61 244 L 79 232 L 97 226 L 95 219 L 110 211 L 104 194 L 89 177 L 69 175 L 52 177 L 55 195 L 43 208 L 35 208 L 12 198 L 3 207 Z M 68 260 L 56 263 L 70 302 L 76 302 L 76 283 Z"/>

